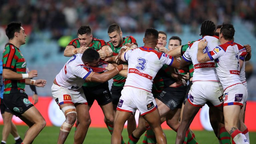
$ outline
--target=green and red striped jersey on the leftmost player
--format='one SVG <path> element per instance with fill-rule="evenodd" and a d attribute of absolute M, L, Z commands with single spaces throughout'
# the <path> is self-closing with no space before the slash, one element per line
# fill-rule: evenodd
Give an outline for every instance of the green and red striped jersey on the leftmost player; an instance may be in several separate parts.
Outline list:
<path fill-rule="evenodd" d="M 19 74 L 26 73 L 26 61 L 20 50 L 13 44 L 8 44 L 3 51 L 3 69 L 9 69 Z M 4 94 L 25 93 L 25 79 L 4 79 Z"/>

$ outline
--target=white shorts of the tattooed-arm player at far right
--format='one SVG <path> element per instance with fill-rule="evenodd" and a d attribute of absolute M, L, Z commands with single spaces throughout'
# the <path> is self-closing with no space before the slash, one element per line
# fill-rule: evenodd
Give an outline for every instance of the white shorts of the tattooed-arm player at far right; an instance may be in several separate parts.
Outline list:
<path fill-rule="evenodd" d="M 247 89 L 241 83 L 226 88 L 223 95 L 224 106 L 240 105 L 243 106 L 247 100 Z"/>

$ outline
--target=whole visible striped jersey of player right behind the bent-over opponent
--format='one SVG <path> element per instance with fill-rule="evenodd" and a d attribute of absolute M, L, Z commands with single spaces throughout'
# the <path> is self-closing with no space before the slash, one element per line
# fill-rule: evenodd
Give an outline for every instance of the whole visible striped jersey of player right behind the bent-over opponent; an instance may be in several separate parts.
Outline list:
<path fill-rule="evenodd" d="M 72 45 L 75 48 L 80 48 L 80 42 L 78 40 L 78 38 L 73 39 L 68 45 Z M 100 50 L 103 46 L 107 45 L 107 43 L 102 40 L 102 39 L 98 39 L 98 38 L 92 38 L 92 42 L 91 44 L 88 46 L 89 48 L 94 48 L 96 51 Z M 102 72 L 101 72 L 102 73 Z M 86 87 L 93 87 L 93 86 L 97 86 L 100 85 L 101 83 L 95 83 L 95 82 L 85 82 L 83 84 L 83 86 Z"/>

